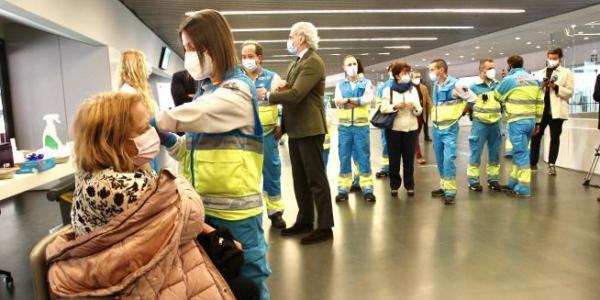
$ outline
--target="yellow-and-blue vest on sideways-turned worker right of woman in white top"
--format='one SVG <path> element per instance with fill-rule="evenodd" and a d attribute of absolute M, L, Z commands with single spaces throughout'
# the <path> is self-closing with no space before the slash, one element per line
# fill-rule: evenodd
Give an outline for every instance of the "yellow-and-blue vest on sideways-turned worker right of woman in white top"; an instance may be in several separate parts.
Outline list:
<path fill-rule="evenodd" d="M 454 125 L 462 117 L 467 102 L 453 97 L 454 86 L 458 80 L 448 76 L 442 87 L 433 85 L 433 109 L 431 111 L 433 125 L 446 129 Z"/>

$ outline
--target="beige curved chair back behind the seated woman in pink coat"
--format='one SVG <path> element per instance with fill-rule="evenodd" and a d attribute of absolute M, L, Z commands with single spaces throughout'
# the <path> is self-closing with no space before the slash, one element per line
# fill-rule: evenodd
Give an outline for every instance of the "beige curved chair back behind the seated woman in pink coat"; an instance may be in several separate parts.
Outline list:
<path fill-rule="evenodd" d="M 46 300 L 50 299 L 50 292 L 48 287 L 48 265 L 46 264 L 46 247 L 57 236 L 66 231 L 69 226 L 64 226 L 60 230 L 57 230 L 50 235 L 47 235 L 40 240 L 29 254 L 29 262 L 31 264 L 32 280 L 33 280 L 33 296 L 35 300 Z"/>

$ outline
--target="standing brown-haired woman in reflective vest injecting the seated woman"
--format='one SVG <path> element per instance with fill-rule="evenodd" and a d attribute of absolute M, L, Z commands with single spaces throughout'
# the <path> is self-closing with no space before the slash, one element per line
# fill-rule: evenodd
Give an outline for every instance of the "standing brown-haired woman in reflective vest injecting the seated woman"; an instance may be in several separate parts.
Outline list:
<path fill-rule="evenodd" d="M 214 10 L 187 17 L 179 35 L 185 68 L 200 81 L 196 98 L 156 115 L 171 155 L 180 171 L 202 196 L 206 221 L 227 228 L 244 248 L 241 275 L 261 288 L 271 274 L 262 228 L 262 127 L 254 83 L 238 64 L 233 34 L 225 18 Z"/>

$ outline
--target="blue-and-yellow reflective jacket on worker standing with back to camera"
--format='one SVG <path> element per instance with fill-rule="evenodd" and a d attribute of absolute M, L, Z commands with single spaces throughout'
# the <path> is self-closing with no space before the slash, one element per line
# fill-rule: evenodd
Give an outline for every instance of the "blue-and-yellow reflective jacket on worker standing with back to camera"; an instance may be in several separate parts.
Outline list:
<path fill-rule="evenodd" d="M 525 119 L 541 121 L 544 91 L 541 83 L 525 70 L 511 70 L 496 89 L 495 96 L 504 103 L 508 122 Z"/>

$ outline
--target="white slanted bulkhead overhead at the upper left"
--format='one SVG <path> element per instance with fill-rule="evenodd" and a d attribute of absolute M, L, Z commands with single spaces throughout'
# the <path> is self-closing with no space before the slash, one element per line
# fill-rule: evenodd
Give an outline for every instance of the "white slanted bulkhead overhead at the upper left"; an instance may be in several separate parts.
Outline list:
<path fill-rule="evenodd" d="M 84 43 L 106 45 L 118 51 L 141 50 L 155 67 L 162 47 L 166 46 L 117 0 L 7 0 L 0 2 L 0 14 Z M 167 72 L 179 70 L 183 70 L 183 61 L 174 53 Z"/>

